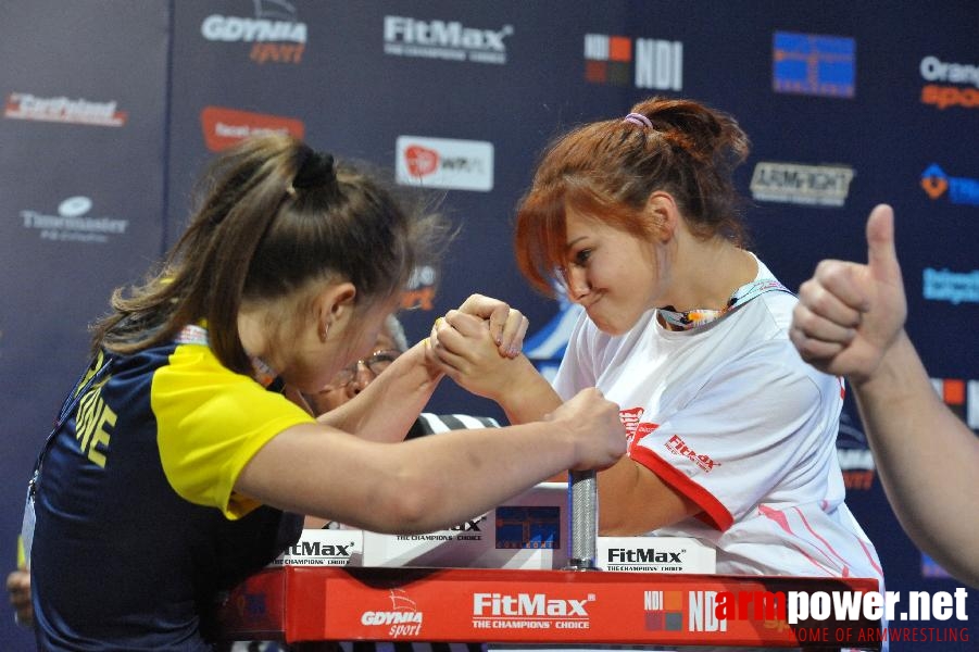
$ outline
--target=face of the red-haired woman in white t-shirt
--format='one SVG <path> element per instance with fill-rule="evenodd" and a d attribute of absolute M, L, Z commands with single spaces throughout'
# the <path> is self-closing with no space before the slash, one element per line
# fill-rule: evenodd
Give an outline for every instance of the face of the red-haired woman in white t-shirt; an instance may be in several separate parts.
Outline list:
<path fill-rule="evenodd" d="M 568 298 L 603 333 L 628 331 L 662 291 L 652 244 L 573 210 L 565 223 Z"/>

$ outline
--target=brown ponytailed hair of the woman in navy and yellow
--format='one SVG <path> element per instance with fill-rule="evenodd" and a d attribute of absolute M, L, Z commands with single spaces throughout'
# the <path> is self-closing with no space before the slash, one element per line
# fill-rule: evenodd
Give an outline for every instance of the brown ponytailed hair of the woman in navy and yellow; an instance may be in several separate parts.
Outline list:
<path fill-rule="evenodd" d="M 113 293 L 112 313 L 92 328 L 93 349 L 134 353 L 206 321 L 217 358 L 248 373 L 237 323 L 243 301 L 332 275 L 369 304 L 401 291 L 445 242 L 440 216 L 410 215 L 376 178 L 288 136 L 226 150 L 201 191 L 189 227 L 146 284 Z"/>

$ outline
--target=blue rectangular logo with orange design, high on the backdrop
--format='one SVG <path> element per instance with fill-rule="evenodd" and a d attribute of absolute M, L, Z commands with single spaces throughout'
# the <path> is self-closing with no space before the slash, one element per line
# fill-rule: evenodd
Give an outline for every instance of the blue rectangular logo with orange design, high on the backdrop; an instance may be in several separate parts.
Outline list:
<path fill-rule="evenodd" d="M 854 96 L 856 41 L 852 38 L 776 32 L 771 60 L 775 92 Z"/>

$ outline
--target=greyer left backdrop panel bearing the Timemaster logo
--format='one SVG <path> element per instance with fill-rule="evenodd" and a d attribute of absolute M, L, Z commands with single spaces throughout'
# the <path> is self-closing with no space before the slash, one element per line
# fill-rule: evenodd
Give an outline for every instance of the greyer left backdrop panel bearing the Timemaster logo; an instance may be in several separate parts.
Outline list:
<path fill-rule="evenodd" d="M 30 469 L 86 365 L 86 325 L 161 251 L 171 42 L 166 2 L 18 0 L 0 11 L 4 578 Z M 33 650 L 5 595 L 2 612 L 0 649 Z"/>

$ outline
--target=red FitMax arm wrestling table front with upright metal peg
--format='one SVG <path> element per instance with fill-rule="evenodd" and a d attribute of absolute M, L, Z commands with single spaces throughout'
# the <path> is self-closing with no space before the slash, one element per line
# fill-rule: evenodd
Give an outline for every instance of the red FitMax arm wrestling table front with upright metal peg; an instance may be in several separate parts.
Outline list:
<path fill-rule="evenodd" d="M 593 474 L 572 474 L 567 569 L 267 568 L 223 601 L 226 640 L 485 641 L 879 650 L 880 620 L 801 618 L 765 599 L 877 591 L 869 578 L 595 570 Z M 583 532 L 583 534 L 582 534 Z M 743 601 L 718 618 L 719 595 Z M 754 604 L 752 604 L 754 601 Z M 782 603 L 785 604 L 785 603 Z M 757 610 L 757 611 L 755 611 Z M 876 638 L 876 640 L 874 640 Z"/>

